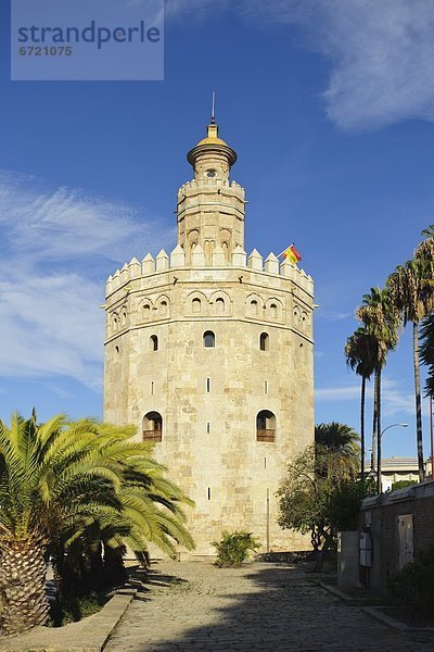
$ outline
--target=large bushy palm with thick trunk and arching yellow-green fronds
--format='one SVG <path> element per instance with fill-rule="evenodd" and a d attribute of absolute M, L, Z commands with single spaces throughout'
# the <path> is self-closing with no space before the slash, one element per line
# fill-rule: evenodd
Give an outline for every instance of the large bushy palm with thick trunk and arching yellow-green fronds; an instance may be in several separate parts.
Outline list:
<path fill-rule="evenodd" d="M 48 618 L 44 553 L 66 550 L 91 527 L 146 553 L 193 542 L 179 503 L 189 503 L 150 457 L 135 429 L 63 415 L 38 425 L 15 414 L 0 422 L 0 597 L 7 634 Z M 97 528 L 97 529 L 98 529 Z"/>

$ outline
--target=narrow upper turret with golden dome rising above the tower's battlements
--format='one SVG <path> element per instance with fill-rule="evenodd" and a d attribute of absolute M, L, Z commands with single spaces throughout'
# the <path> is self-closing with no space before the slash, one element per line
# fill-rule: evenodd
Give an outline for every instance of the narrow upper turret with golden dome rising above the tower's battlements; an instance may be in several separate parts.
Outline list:
<path fill-rule="evenodd" d="M 216 247 L 229 261 L 235 247 L 244 248 L 244 189 L 229 181 L 237 152 L 218 136 L 213 115 L 206 138 L 187 155 L 193 166 L 194 179 L 178 191 L 178 244 L 191 262 L 192 250 L 202 247 L 205 264 L 212 263 Z"/>

